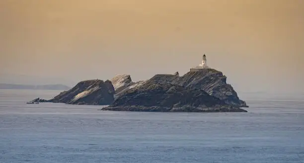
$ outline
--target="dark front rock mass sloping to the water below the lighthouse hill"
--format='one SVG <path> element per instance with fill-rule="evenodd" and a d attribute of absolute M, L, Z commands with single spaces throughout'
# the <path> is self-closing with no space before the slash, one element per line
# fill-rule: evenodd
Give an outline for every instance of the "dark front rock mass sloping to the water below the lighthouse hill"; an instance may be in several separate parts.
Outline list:
<path fill-rule="evenodd" d="M 185 77 L 181 78 L 176 75 L 155 75 L 138 86 L 124 89 L 113 104 L 101 110 L 246 112 L 210 95 L 198 84 L 191 86 L 191 81 L 187 83 Z"/>

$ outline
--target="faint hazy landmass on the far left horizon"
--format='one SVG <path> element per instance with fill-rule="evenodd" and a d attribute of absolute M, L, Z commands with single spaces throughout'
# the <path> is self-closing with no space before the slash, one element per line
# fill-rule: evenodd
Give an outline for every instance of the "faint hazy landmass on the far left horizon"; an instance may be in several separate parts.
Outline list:
<path fill-rule="evenodd" d="M 40 90 L 69 90 L 71 87 L 63 84 L 24 85 L 0 83 L 0 89 L 40 89 Z"/>

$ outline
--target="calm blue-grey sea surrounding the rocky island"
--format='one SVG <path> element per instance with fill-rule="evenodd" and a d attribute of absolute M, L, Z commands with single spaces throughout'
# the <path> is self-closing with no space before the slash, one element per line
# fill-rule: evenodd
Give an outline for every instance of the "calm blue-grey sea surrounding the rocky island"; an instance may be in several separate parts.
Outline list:
<path fill-rule="evenodd" d="M 0 89 L 0 163 L 304 163 L 304 94 L 239 93 L 238 113 L 25 103 L 59 92 Z"/>

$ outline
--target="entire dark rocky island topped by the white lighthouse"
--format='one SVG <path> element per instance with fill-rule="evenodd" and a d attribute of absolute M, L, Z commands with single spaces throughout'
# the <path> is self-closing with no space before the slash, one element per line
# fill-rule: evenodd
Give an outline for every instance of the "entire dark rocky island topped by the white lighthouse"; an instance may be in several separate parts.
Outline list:
<path fill-rule="evenodd" d="M 179 76 L 155 75 L 147 81 L 118 75 L 110 81 L 81 81 L 50 100 L 34 102 L 109 105 L 100 110 L 159 112 L 247 112 L 222 72 L 207 67 L 206 56 L 200 66 Z"/>

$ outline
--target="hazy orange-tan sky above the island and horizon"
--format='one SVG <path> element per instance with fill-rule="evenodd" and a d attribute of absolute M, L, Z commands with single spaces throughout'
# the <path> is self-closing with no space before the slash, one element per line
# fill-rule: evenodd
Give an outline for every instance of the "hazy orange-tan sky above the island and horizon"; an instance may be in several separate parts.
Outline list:
<path fill-rule="evenodd" d="M 182 75 L 206 53 L 236 91 L 304 91 L 304 0 L 0 0 L 0 36 L 2 81 Z"/>

